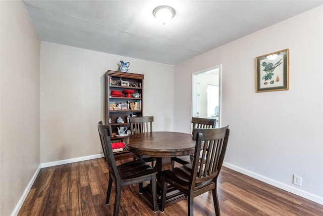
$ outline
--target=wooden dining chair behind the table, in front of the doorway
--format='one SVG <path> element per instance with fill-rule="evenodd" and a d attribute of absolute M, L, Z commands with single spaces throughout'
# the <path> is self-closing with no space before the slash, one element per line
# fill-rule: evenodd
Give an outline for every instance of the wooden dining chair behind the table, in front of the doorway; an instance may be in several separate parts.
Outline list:
<path fill-rule="evenodd" d="M 197 118 L 192 117 L 193 129 L 192 134 L 194 134 L 195 128 L 215 128 L 217 119 L 216 118 Z M 182 165 L 193 162 L 193 155 L 189 156 L 180 156 L 172 158 L 172 167 L 174 167 L 175 162 L 178 162 Z"/>

